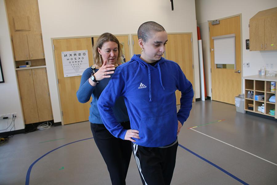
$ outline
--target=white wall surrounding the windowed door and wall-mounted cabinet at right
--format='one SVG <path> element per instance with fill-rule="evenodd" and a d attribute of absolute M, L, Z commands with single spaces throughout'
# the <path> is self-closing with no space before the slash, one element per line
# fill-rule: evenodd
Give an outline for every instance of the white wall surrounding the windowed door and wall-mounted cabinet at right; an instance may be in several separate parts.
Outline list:
<path fill-rule="evenodd" d="M 242 64 L 247 62 L 250 63 L 249 68 L 242 68 L 242 76 L 257 75 L 260 67 L 266 66 L 266 64 L 273 64 L 274 68 L 269 70 L 276 71 L 277 51 L 249 51 L 245 48 L 245 40 L 249 39 L 249 19 L 261 10 L 274 8 L 276 6 L 276 0 L 195 0 L 196 19 L 200 26 L 201 38 L 203 40 L 203 58 L 208 96 L 211 96 L 211 62 L 207 21 L 225 18 L 235 14 L 242 14 Z"/>

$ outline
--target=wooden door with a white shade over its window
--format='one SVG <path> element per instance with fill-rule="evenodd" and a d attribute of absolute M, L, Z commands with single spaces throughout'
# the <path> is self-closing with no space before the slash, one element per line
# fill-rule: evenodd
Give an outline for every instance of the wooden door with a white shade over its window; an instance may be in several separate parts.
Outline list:
<path fill-rule="evenodd" d="M 220 23 L 216 25 L 211 25 L 211 23 L 209 23 L 209 27 L 211 44 L 212 99 L 215 101 L 235 104 L 235 96 L 241 94 L 241 73 L 237 72 L 238 70 L 242 70 L 240 16 L 220 20 Z M 212 37 L 230 34 L 235 34 L 236 70 L 234 68 L 215 67 L 214 40 Z"/>

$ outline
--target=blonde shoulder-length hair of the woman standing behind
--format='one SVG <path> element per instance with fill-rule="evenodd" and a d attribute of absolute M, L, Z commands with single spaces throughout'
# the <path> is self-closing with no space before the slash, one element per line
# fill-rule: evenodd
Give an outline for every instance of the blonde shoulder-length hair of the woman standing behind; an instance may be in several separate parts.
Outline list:
<path fill-rule="evenodd" d="M 102 66 L 103 61 L 102 61 L 102 57 L 100 57 L 100 54 L 98 52 L 98 47 L 101 49 L 103 44 L 105 42 L 109 42 L 109 41 L 117 43 L 117 47 L 118 47 L 117 62 L 120 62 L 120 57 L 122 55 L 122 51 L 121 51 L 121 47 L 120 47 L 120 43 L 119 43 L 118 39 L 111 33 L 103 33 L 102 35 L 100 35 L 98 37 L 96 44 L 94 44 L 94 46 L 93 46 L 94 63 L 97 64 L 99 67 Z"/>

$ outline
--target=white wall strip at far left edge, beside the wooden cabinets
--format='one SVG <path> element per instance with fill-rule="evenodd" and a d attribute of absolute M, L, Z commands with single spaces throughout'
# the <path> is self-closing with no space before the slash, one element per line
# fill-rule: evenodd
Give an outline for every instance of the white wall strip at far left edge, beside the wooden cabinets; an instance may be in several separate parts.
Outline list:
<path fill-rule="evenodd" d="M 0 83 L 0 114 L 17 113 L 15 130 L 24 129 L 4 0 L 0 0 L 0 57 L 5 80 Z M 11 119 L 0 120 L 0 133 L 10 131 L 10 128 L 3 130 L 7 128 L 7 121 L 10 123 Z"/>

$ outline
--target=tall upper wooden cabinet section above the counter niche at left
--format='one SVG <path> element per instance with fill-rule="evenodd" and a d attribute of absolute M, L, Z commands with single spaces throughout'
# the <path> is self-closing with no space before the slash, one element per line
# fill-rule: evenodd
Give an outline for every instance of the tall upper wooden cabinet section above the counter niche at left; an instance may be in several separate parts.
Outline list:
<path fill-rule="evenodd" d="M 6 0 L 15 61 L 44 59 L 38 0 Z"/>

